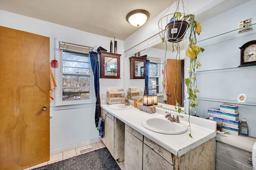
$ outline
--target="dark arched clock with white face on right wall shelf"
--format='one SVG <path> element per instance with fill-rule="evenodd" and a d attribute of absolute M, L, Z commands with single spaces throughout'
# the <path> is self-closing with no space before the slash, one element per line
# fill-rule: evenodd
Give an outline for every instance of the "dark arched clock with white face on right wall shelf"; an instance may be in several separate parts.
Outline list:
<path fill-rule="evenodd" d="M 248 41 L 239 48 L 241 51 L 241 63 L 239 67 L 256 65 L 256 40 Z"/>

